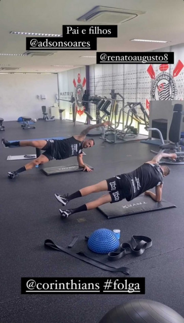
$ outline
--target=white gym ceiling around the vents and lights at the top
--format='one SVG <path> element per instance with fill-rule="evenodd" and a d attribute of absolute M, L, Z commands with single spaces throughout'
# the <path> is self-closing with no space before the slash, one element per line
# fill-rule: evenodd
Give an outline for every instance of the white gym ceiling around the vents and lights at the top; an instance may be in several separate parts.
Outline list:
<path fill-rule="evenodd" d="M 62 25 L 85 24 L 77 18 L 95 6 L 146 12 L 118 25 L 118 38 L 98 38 L 98 52 L 146 52 L 183 42 L 183 0 L 0 0 L 0 53 L 26 52 L 26 35 L 10 34 L 10 31 L 62 34 Z M 170 42 L 134 42 L 130 41 L 132 38 Z M 40 73 L 96 64 L 96 58 L 81 57 L 85 55 L 95 56 L 96 51 L 57 51 L 48 57 L 0 56 L 0 68 L 2 64 L 8 64 L 19 68 L 12 72 Z"/>

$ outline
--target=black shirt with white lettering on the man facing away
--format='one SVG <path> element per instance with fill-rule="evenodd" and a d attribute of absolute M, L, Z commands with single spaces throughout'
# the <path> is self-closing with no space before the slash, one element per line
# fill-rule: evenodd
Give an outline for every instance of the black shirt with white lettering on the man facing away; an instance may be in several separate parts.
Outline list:
<path fill-rule="evenodd" d="M 127 190 L 126 186 L 127 201 L 131 201 L 142 193 L 163 183 L 163 174 L 159 164 L 145 163 L 132 172 L 124 174 L 124 176 L 129 182 L 129 190 Z"/>

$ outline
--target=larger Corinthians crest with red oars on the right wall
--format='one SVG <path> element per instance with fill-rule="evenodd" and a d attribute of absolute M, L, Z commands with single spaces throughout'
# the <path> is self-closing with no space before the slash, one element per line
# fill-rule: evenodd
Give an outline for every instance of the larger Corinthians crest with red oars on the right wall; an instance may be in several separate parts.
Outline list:
<path fill-rule="evenodd" d="M 152 79 L 154 79 L 154 83 L 151 89 L 151 98 L 152 100 L 174 100 L 177 95 L 176 83 L 174 81 L 174 77 L 176 77 L 183 68 L 183 64 L 180 60 L 178 60 L 173 74 L 166 72 L 169 68 L 168 64 L 161 64 L 159 66 L 159 73 L 155 76 L 155 71 L 152 65 L 147 69 L 148 74 Z"/>

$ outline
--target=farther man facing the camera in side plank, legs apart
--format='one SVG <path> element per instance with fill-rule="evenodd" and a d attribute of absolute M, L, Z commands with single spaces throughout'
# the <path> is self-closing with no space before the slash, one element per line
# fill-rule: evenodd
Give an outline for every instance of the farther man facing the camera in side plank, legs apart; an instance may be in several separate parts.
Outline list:
<path fill-rule="evenodd" d="M 36 140 L 36 141 L 18 141 L 18 142 L 8 142 L 2 138 L 2 144 L 4 147 L 35 147 L 41 150 L 44 150 L 44 153 L 41 154 L 38 158 L 34 159 L 25 166 L 17 169 L 16 171 L 8 172 L 9 178 L 14 178 L 18 173 L 21 173 L 25 170 L 31 169 L 36 165 L 44 164 L 53 159 L 66 159 L 72 156 L 77 156 L 77 161 L 79 167 L 83 167 L 86 171 L 92 171 L 87 165 L 83 163 L 82 149 L 90 148 L 95 145 L 93 139 L 85 139 L 86 134 L 94 128 L 100 126 L 110 125 L 111 122 L 105 121 L 103 123 L 98 123 L 94 125 L 89 125 L 86 129 L 81 131 L 80 134 L 74 135 L 70 138 L 63 140 Z"/>

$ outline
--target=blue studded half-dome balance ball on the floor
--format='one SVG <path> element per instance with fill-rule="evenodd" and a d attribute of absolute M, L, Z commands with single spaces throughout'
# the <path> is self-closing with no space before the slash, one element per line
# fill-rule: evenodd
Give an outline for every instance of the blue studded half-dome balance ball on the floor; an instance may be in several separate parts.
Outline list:
<path fill-rule="evenodd" d="M 119 240 L 113 231 L 102 228 L 91 234 L 87 246 L 97 253 L 109 253 L 119 248 Z"/>

